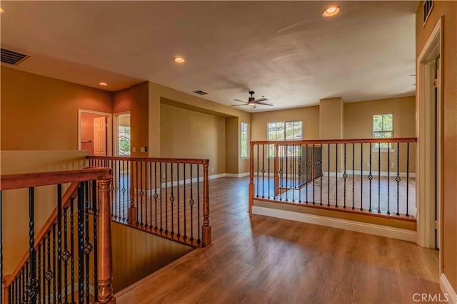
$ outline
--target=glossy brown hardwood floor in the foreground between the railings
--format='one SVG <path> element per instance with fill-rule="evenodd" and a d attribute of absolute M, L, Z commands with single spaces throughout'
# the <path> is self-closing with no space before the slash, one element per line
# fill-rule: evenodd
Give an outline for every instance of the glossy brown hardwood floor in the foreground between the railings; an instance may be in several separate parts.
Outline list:
<path fill-rule="evenodd" d="M 413 303 L 414 293 L 441 293 L 438 251 L 249 217 L 248 179 L 211 180 L 210 204 L 213 245 L 117 293 L 117 303 Z"/>

